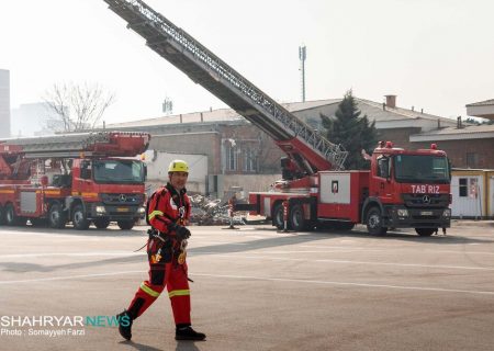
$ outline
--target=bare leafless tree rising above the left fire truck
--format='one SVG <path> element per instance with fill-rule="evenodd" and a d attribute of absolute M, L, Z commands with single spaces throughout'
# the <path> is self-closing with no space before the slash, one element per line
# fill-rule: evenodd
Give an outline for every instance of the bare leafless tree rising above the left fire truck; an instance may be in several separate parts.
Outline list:
<path fill-rule="evenodd" d="M 59 121 L 48 121 L 48 127 L 74 132 L 93 128 L 115 97 L 100 84 L 55 83 L 43 100 L 59 117 Z"/>

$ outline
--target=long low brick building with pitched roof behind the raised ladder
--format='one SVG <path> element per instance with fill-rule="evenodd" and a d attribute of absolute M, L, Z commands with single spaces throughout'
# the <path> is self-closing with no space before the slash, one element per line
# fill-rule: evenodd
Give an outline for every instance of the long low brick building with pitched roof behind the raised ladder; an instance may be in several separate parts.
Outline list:
<path fill-rule="evenodd" d="M 283 106 L 322 129 L 321 115 L 333 116 L 341 99 L 288 103 Z M 375 121 L 383 140 L 403 148 L 428 148 L 437 143 L 457 168 L 494 168 L 494 126 L 458 124 L 423 111 L 396 106 L 396 97 L 386 103 L 356 99 L 361 115 Z M 212 177 L 278 174 L 284 154 L 263 132 L 233 110 L 164 116 L 109 125 L 112 129 L 145 131 L 153 135 L 150 148 L 207 156 Z"/>

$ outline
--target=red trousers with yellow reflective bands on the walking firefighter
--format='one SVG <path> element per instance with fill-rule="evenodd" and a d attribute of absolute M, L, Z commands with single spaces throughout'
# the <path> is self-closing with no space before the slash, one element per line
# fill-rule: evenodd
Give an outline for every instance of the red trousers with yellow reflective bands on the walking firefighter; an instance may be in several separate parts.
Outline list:
<path fill-rule="evenodd" d="M 149 280 L 141 283 L 134 299 L 127 308 L 132 318 L 141 316 L 161 294 L 165 286 L 173 310 L 176 325 L 190 325 L 190 290 L 187 280 L 187 262 L 178 264 L 172 250 L 162 252 L 158 263 L 154 262 L 160 242 L 153 239 L 148 244 Z"/>

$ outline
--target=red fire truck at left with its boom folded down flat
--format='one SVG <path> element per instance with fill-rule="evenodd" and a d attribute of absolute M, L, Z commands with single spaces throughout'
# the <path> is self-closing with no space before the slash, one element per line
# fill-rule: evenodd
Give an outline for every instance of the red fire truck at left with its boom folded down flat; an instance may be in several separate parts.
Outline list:
<path fill-rule="evenodd" d="M 99 132 L 0 141 L 0 224 L 79 230 L 144 216 L 146 133 Z"/>

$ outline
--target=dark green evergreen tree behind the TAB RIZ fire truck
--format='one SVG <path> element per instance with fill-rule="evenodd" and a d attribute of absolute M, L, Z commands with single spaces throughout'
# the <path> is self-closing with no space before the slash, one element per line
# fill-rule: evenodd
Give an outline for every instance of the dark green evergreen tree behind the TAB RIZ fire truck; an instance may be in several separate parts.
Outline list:
<path fill-rule="evenodd" d="M 339 103 L 335 116 L 321 115 L 326 138 L 334 144 L 340 144 L 348 151 L 345 169 L 369 169 L 370 162 L 363 159 L 361 150 L 369 152 L 378 143 L 375 122 L 369 123 L 367 115 L 360 117 L 360 113 L 349 90 Z"/>

